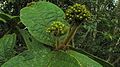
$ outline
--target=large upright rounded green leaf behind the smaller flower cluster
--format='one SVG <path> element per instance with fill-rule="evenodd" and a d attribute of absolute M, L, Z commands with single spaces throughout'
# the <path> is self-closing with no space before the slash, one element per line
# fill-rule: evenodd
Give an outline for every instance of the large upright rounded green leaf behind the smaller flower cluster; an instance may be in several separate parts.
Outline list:
<path fill-rule="evenodd" d="M 53 45 L 55 37 L 46 33 L 47 28 L 53 21 L 62 21 L 66 26 L 64 12 L 50 2 L 37 2 L 21 10 L 20 18 L 22 23 L 28 28 L 29 32 L 38 41 Z M 63 37 L 61 37 L 63 38 Z"/>

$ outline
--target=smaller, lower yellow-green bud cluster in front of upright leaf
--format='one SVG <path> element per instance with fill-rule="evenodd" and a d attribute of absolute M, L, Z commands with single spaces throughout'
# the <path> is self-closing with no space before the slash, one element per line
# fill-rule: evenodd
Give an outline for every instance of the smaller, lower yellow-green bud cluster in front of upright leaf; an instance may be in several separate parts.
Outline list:
<path fill-rule="evenodd" d="M 61 36 L 65 34 L 65 25 L 60 21 L 54 21 L 49 28 L 47 28 L 46 32 L 52 33 L 54 36 Z"/>

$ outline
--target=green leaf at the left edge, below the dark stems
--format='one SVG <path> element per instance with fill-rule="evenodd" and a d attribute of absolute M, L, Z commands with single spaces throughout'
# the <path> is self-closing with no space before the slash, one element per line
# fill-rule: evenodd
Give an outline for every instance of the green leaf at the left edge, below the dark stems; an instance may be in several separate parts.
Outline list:
<path fill-rule="evenodd" d="M 10 59 L 13 54 L 13 48 L 16 42 L 16 35 L 4 35 L 3 38 L 0 39 L 0 61 L 7 61 Z"/>

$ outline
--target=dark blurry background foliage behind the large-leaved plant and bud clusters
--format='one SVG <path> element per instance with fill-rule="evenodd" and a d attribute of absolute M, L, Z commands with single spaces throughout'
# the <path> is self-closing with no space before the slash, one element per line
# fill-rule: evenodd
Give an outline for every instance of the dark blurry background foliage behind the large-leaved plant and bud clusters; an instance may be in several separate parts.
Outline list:
<path fill-rule="evenodd" d="M 1 0 L 0 12 L 9 14 L 10 16 L 18 16 L 20 9 L 30 2 L 38 0 Z M 115 67 L 120 66 L 120 1 L 114 3 L 113 0 L 49 0 L 55 3 L 63 10 L 68 5 L 74 3 L 86 4 L 87 8 L 92 12 L 93 16 L 90 23 L 81 25 L 75 39 L 71 44 L 74 47 L 83 49 L 95 56 L 98 56 L 112 64 Z M 19 19 L 19 18 L 18 18 Z M 6 33 L 17 34 L 17 43 L 14 48 L 19 54 L 26 49 L 21 35 L 18 34 L 16 26 L 25 28 L 19 21 L 6 21 L 0 23 L 0 37 Z M 18 49 L 19 48 L 19 49 Z M 3 63 L 3 62 L 0 62 Z"/>

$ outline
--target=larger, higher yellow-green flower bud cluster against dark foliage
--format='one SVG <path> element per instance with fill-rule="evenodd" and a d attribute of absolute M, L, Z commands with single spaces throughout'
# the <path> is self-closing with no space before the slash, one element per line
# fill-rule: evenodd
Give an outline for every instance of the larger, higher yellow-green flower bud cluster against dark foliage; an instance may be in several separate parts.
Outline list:
<path fill-rule="evenodd" d="M 69 21 L 74 21 L 78 24 L 81 22 L 88 20 L 90 18 L 90 12 L 86 9 L 85 5 L 75 4 L 73 6 L 69 6 L 65 11 L 66 19 Z"/>

